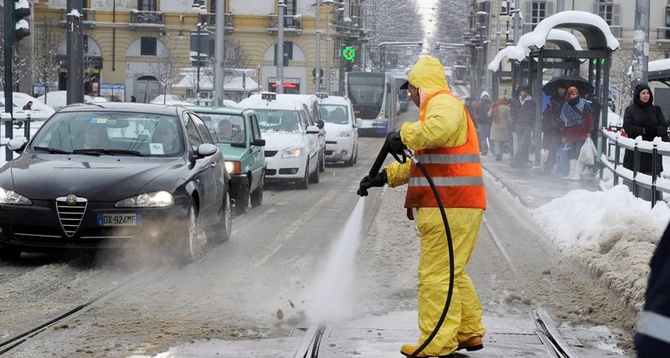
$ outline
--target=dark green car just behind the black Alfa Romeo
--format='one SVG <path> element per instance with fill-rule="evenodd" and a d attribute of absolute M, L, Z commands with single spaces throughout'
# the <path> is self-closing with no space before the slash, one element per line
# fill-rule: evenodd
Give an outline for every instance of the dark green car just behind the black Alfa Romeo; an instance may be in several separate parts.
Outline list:
<path fill-rule="evenodd" d="M 256 113 L 231 107 L 191 107 L 207 124 L 221 148 L 231 178 L 230 192 L 235 212 L 246 213 L 249 205 L 263 202 L 265 139 L 261 138 Z"/>

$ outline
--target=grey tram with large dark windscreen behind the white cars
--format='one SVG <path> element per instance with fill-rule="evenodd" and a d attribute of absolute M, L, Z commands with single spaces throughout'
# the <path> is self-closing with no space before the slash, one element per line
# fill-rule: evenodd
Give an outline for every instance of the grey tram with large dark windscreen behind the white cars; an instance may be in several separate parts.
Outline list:
<path fill-rule="evenodd" d="M 395 130 L 398 94 L 392 75 L 385 72 L 347 72 L 344 91 L 363 125 L 360 135 L 386 135 Z"/>

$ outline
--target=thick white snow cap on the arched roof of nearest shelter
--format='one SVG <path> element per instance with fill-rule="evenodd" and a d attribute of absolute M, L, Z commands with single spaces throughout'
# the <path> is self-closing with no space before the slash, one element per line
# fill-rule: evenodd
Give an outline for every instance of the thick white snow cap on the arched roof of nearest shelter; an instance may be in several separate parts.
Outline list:
<path fill-rule="evenodd" d="M 555 27 L 571 28 L 581 32 L 589 49 L 609 48 L 614 51 L 619 48 L 619 40 L 612 35 L 607 22 L 602 17 L 586 11 L 561 11 L 540 21 L 532 32 L 535 34 L 530 38 L 532 45 L 542 48 L 548 32 Z"/>

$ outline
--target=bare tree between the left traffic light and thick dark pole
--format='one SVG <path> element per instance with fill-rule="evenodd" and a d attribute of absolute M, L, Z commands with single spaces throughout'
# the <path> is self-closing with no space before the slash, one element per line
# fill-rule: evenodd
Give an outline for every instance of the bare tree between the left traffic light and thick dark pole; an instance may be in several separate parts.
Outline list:
<path fill-rule="evenodd" d="M 56 36 L 55 26 L 51 21 L 44 21 L 44 25 L 36 31 L 35 49 L 32 60 L 32 74 L 36 83 L 44 85 L 45 93 L 49 92 L 49 84 L 56 80 L 61 60 L 58 57 L 59 39 Z"/>

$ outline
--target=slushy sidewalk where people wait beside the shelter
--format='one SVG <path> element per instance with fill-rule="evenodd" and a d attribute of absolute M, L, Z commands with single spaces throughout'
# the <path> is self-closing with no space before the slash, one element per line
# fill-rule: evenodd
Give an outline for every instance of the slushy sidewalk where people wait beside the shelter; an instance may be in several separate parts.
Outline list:
<path fill-rule="evenodd" d="M 527 207 L 540 207 L 572 190 L 599 190 L 597 174 L 596 177 L 582 175 L 578 181 L 565 180 L 561 179 L 560 174 L 546 174 L 538 168 L 513 168 L 510 166 L 511 160 L 507 158 L 508 154 L 501 161 L 496 161 L 490 153 L 481 156 L 484 175 L 490 174 Z"/>

